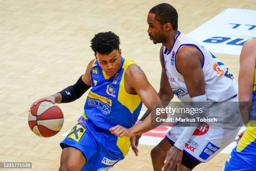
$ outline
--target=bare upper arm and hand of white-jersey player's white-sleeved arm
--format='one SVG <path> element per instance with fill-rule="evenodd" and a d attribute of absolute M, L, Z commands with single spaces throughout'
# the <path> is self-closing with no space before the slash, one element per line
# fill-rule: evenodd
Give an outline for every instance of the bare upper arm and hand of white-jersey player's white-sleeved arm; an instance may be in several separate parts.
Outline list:
<path fill-rule="evenodd" d="M 176 56 L 175 62 L 177 69 L 184 77 L 184 81 L 191 98 L 205 94 L 205 79 L 202 71 L 202 61 L 202 54 L 195 46 L 182 47 Z M 192 133 L 195 131 L 194 127 L 187 127 L 185 129 L 191 129 L 189 132 Z M 189 140 L 192 133 L 191 135 L 180 136 L 187 136 Z M 177 170 L 179 170 L 182 156 L 183 151 L 175 146 L 172 146 L 166 154 L 162 170 L 173 171 L 176 167 L 178 168 Z"/>

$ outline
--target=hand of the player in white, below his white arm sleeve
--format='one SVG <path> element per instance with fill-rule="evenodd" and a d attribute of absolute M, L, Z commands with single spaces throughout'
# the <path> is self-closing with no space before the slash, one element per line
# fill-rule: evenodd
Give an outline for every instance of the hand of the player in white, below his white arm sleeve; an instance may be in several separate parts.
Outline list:
<path fill-rule="evenodd" d="M 183 151 L 172 146 L 166 154 L 162 171 L 179 171 L 179 166 L 182 161 Z"/>

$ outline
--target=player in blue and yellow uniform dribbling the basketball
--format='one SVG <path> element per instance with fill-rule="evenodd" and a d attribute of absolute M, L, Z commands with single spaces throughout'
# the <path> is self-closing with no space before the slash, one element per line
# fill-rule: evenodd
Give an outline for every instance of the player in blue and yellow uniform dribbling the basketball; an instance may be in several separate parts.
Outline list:
<path fill-rule="evenodd" d="M 74 85 L 31 105 L 72 102 L 92 87 L 84 113 L 60 143 L 63 151 L 59 171 L 108 171 L 123 160 L 131 145 L 129 138 L 117 137 L 109 129 L 115 125 L 131 128 L 142 102 L 148 109 L 151 102 L 160 102 L 143 71 L 134 61 L 121 56 L 119 44 L 113 32 L 96 34 L 91 41 L 96 59 L 90 61 L 85 74 Z M 132 147 L 136 149 L 134 143 Z"/>

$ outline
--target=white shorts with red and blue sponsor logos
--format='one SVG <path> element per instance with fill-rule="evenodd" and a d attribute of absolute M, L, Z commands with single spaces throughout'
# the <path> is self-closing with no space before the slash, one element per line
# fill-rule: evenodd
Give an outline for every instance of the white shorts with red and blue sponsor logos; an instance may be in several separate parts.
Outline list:
<path fill-rule="evenodd" d="M 233 97 L 227 102 L 237 102 L 238 98 Z M 213 116 L 213 112 L 218 112 L 218 109 L 225 109 L 225 104 L 216 105 L 216 107 L 212 108 L 212 112 L 209 113 Z M 234 111 L 233 111 L 234 110 Z M 233 107 L 232 112 L 234 122 L 241 123 L 241 117 L 238 117 L 239 106 Z M 229 112 L 230 113 L 230 112 Z M 231 114 L 230 114 L 231 115 Z M 217 115 L 218 117 L 218 115 Z M 232 116 L 229 116 L 232 118 Z M 235 118 L 235 119 L 234 119 Z M 185 127 L 182 127 L 182 123 L 179 125 L 175 125 L 166 135 L 166 139 L 170 141 L 170 143 L 174 144 L 179 135 L 181 135 L 182 131 Z M 211 160 L 215 155 L 217 155 L 220 151 L 223 150 L 226 146 L 232 143 L 238 131 L 240 130 L 240 126 L 237 127 L 212 127 L 208 123 L 200 123 L 197 126 L 197 129 L 193 133 L 190 140 L 185 144 L 184 152 L 189 156 L 194 158 L 199 162 L 206 162 Z"/>

